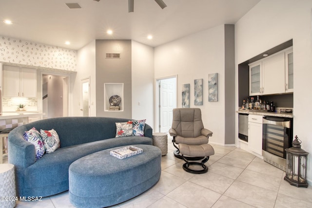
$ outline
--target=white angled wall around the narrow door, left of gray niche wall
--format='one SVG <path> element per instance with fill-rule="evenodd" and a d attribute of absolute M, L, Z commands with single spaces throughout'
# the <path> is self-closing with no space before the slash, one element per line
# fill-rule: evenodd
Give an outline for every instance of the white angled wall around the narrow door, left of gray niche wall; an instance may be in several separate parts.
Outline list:
<path fill-rule="evenodd" d="M 78 50 L 77 74 L 72 75 L 73 108 L 71 115 L 80 116 L 80 80 L 90 77 L 91 116 L 96 116 L 96 41 Z"/>

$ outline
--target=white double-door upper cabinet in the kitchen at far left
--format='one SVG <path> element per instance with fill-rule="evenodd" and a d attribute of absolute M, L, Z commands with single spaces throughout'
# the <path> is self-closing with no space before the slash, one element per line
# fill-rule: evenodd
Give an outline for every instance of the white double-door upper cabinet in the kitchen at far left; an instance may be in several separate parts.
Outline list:
<path fill-rule="evenodd" d="M 3 66 L 3 97 L 37 97 L 37 70 Z"/>

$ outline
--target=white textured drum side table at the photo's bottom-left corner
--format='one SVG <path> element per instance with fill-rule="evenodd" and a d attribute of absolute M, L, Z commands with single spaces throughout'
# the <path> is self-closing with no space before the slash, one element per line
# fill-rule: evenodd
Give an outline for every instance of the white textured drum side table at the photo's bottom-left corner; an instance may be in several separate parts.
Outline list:
<path fill-rule="evenodd" d="M 15 207 L 14 165 L 0 164 L 0 208 Z"/>

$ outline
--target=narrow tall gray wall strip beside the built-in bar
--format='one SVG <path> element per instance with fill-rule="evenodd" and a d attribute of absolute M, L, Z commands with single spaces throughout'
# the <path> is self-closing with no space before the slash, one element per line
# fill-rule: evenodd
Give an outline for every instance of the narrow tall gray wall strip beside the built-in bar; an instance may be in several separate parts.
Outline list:
<path fill-rule="evenodd" d="M 224 25 L 225 42 L 225 142 L 235 144 L 235 45 L 234 24 Z"/>

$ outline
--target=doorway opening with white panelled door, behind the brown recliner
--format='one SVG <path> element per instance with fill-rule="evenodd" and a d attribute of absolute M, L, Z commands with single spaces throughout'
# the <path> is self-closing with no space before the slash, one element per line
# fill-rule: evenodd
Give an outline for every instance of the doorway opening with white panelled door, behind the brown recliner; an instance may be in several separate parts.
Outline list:
<path fill-rule="evenodd" d="M 168 133 L 172 125 L 172 111 L 176 108 L 177 76 L 157 79 L 156 123 L 158 132 Z"/>

